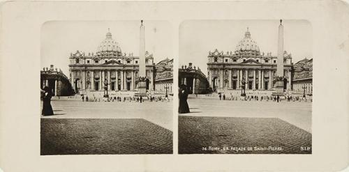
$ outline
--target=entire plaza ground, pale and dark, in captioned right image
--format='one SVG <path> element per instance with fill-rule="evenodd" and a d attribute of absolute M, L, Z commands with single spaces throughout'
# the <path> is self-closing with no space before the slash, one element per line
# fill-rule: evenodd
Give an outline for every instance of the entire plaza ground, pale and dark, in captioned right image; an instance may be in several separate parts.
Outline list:
<path fill-rule="evenodd" d="M 179 114 L 180 154 L 311 153 L 311 102 L 208 97 L 188 104 L 191 113 Z"/>

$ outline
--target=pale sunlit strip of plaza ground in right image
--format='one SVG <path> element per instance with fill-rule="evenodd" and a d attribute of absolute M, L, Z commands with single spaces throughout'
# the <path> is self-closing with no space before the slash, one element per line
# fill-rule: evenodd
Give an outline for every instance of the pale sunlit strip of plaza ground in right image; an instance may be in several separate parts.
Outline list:
<path fill-rule="evenodd" d="M 189 98 L 190 114 L 181 116 L 225 116 L 280 118 L 311 132 L 311 102 L 242 101 Z"/>

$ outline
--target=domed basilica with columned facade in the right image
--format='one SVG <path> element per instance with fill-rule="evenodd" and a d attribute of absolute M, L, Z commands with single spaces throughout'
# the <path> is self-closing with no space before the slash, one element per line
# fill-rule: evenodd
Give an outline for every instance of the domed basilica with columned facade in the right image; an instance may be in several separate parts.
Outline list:
<path fill-rule="evenodd" d="M 246 91 L 273 91 L 276 79 L 277 56 L 260 52 L 257 42 L 245 32 L 234 52 L 215 49 L 209 52 L 207 63 L 209 85 L 214 91 L 241 90 L 245 83 Z M 284 90 L 292 89 L 292 56 L 283 56 Z"/>

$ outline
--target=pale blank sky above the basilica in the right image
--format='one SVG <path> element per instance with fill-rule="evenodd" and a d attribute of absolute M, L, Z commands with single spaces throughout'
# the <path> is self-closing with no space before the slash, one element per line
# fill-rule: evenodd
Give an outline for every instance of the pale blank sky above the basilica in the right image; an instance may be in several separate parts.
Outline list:
<path fill-rule="evenodd" d="M 248 27 L 260 52 L 277 55 L 279 20 L 188 20 L 179 26 L 179 66 L 200 67 L 207 75 L 209 51 L 235 52 Z M 312 56 L 312 28 L 306 20 L 283 20 L 283 49 L 292 54 L 292 62 Z"/>

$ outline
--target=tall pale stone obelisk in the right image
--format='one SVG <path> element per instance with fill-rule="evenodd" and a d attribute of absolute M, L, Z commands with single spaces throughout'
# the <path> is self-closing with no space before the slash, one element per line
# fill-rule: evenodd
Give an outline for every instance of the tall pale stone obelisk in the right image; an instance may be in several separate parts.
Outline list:
<path fill-rule="evenodd" d="M 280 19 L 278 59 L 276 64 L 276 95 L 283 96 L 283 79 L 283 25 L 282 19 Z"/>

